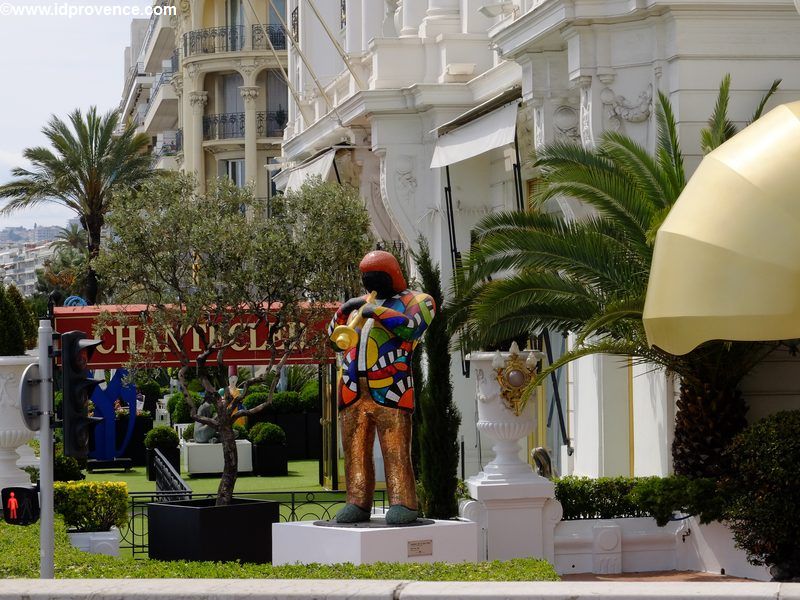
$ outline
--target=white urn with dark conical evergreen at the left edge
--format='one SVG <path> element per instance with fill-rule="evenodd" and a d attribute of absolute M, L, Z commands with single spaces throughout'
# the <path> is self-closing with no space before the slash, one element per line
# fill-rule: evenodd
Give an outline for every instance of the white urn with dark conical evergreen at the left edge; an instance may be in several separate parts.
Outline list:
<path fill-rule="evenodd" d="M 28 475 L 17 468 L 17 448 L 33 438 L 22 421 L 19 383 L 36 356 L 25 354 L 25 329 L 17 307 L 0 284 L 0 487 L 27 485 Z"/>

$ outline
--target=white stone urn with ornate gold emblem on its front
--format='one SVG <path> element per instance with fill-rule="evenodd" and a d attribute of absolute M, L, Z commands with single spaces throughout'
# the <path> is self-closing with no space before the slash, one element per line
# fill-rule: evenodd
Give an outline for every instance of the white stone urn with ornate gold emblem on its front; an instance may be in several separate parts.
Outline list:
<path fill-rule="evenodd" d="M 495 458 L 471 478 L 484 483 L 534 483 L 543 478 L 520 458 L 520 439 L 536 428 L 535 402 L 523 390 L 536 372 L 541 353 L 520 351 L 516 342 L 509 352 L 472 352 L 478 399 L 478 431 L 494 442 Z"/>

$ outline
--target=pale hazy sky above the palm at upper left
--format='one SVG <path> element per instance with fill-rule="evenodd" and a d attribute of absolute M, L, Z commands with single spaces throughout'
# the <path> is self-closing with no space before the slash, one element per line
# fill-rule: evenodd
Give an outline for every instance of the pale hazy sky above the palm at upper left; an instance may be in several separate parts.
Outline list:
<path fill-rule="evenodd" d="M 11 169 L 29 166 L 28 147 L 46 145 L 42 127 L 51 115 L 66 119 L 76 108 L 117 108 L 131 16 L 75 15 L 79 7 L 124 6 L 144 11 L 148 0 L 0 0 L 0 184 Z M 64 13 L 44 16 L 40 8 Z M 52 8 L 47 8 L 52 7 Z M 36 16 L 22 10 L 39 11 Z M 3 201 L 0 201 L 2 203 Z M 4 227 L 65 226 L 75 214 L 58 204 L 0 216 Z"/>

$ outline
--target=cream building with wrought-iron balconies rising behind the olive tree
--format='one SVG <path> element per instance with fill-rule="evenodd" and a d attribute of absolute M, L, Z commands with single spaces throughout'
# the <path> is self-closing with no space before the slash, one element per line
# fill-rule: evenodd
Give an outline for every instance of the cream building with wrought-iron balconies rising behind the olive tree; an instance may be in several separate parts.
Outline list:
<path fill-rule="evenodd" d="M 263 168 L 280 156 L 288 116 L 285 0 L 188 0 L 176 16 L 131 24 L 120 110 L 151 137 L 155 167 L 250 184 L 270 195 Z M 255 12 L 253 12 L 253 9 Z M 274 50 L 274 52 L 273 52 Z"/>

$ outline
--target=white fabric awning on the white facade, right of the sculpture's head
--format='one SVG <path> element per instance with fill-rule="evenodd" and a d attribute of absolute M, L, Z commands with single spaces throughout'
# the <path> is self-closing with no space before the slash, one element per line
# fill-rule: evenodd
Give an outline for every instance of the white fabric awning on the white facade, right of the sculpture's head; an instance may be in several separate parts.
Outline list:
<path fill-rule="evenodd" d="M 446 167 L 500 146 L 513 144 L 516 126 L 517 103 L 513 102 L 445 133 L 436 140 L 431 169 Z"/>

